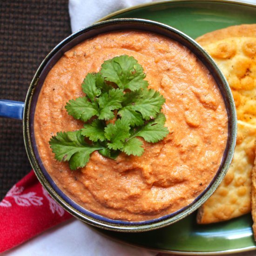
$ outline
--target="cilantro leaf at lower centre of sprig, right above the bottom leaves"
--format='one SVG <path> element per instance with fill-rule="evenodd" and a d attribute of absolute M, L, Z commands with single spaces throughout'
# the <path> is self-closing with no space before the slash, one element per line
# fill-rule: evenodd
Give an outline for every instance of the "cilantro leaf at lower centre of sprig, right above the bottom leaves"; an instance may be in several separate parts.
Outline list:
<path fill-rule="evenodd" d="M 130 136 L 130 126 L 128 121 L 118 119 L 115 124 L 109 123 L 105 128 L 105 137 L 108 139 L 107 145 L 110 149 L 121 149 L 124 141 Z"/>

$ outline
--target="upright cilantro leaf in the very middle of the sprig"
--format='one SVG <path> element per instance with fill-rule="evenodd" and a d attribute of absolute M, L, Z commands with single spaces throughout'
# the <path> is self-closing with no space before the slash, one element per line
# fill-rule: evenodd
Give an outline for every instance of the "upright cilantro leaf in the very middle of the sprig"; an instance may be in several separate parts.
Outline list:
<path fill-rule="evenodd" d="M 109 120 L 115 117 L 112 110 L 121 108 L 123 95 L 123 90 L 113 88 L 109 90 L 108 93 L 104 93 L 98 98 L 100 106 L 100 120 Z"/>

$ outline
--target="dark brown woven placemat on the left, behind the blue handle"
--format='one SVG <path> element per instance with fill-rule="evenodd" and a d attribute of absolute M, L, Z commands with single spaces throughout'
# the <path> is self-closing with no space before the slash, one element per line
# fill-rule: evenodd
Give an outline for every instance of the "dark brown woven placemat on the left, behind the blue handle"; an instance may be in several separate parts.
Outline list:
<path fill-rule="evenodd" d="M 68 0 L 0 1 L 0 99 L 24 101 L 40 62 L 69 34 Z M 22 122 L 0 118 L 0 200 L 30 170 Z"/>

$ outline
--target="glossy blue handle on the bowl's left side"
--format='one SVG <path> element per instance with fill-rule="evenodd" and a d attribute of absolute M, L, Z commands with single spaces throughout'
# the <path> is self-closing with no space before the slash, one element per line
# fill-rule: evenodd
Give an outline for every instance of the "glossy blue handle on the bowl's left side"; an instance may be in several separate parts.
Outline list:
<path fill-rule="evenodd" d="M 22 120 L 24 102 L 0 100 L 0 116 Z"/>

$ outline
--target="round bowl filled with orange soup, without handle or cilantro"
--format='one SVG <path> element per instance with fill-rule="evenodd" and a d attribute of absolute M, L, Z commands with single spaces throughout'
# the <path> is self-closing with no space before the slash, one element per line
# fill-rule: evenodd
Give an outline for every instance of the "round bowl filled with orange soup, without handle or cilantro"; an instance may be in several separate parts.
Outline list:
<path fill-rule="evenodd" d="M 121 55 L 134 57 L 148 88 L 164 97 L 168 135 L 141 139 L 141 156 L 111 159 L 96 150 L 72 170 L 54 158 L 49 141 L 83 127 L 66 103 L 84 95 L 87 74 Z M 195 211 L 222 181 L 236 142 L 232 94 L 209 54 L 175 28 L 140 19 L 99 22 L 57 45 L 28 89 L 23 124 L 28 158 L 49 194 L 83 222 L 127 232 L 161 228 Z"/>

